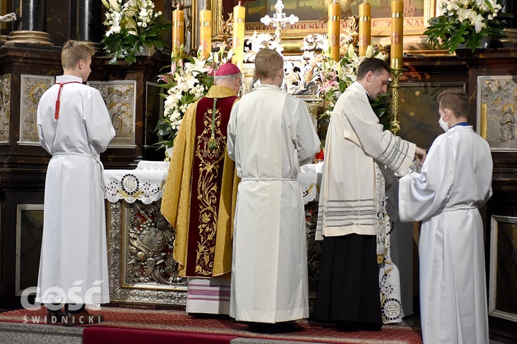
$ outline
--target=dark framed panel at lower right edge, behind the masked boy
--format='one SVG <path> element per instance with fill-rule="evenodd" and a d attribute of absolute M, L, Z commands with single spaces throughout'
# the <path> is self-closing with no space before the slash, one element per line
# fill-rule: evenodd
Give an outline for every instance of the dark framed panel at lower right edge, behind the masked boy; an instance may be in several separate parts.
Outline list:
<path fill-rule="evenodd" d="M 517 217 L 492 216 L 489 315 L 517 321 Z"/>

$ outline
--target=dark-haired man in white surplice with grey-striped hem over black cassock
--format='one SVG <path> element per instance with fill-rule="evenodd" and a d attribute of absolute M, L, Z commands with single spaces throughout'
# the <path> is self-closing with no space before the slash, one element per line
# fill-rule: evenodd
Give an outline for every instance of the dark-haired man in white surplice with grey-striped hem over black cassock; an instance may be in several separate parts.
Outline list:
<path fill-rule="evenodd" d="M 378 264 L 386 253 L 384 166 L 406 173 L 425 151 L 383 131 L 369 104 L 386 92 L 389 65 L 365 58 L 338 98 L 325 140 L 316 239 L 323 235 L 314 319 L 345 331 L 380 330 Z"/>

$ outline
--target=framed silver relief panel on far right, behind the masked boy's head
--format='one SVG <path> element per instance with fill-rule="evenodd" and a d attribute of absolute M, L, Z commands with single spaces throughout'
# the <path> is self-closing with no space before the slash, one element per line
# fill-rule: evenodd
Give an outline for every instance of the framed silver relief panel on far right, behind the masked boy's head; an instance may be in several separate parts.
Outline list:
<path fill-rule="evenodd" d="M 478 76 L 477 131 L 491 151 L 517 151 L 517 76 Z"/>

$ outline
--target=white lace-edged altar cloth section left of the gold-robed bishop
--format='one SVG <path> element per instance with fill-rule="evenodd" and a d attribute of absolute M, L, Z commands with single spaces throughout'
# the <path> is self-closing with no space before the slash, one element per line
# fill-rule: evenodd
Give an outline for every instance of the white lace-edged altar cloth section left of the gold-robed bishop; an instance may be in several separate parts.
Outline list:
<path fill-rule="evenodd" d="M 163 161 L 141 161 L 133 170 L 106 169 L 105 198 L 112 203 L 139 200 L 143 204 L 151 204 L 161 200 L 168 169 L 169 162 Z"/>

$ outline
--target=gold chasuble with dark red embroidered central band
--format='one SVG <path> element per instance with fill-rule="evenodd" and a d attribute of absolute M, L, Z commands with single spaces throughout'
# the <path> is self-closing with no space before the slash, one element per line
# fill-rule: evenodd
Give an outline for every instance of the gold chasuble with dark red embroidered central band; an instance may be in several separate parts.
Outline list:
<path fill-rule="evenodd" d="M 181 277 L 216 277 L 232 268 L 239 178 L 227 155 L 226 130 L 237 99 L 232 89 L 212 86 L 189 107 L 174 139 L 161 213 L 176 230 Z"/>

